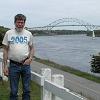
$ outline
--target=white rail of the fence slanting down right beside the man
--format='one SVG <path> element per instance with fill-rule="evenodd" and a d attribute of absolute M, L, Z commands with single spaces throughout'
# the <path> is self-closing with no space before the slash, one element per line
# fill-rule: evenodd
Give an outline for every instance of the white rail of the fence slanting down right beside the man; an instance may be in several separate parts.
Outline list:
<path fill-rule="evenodd" d="M 36 83 L 38 83 L 40 86 L 50 91 L 54 95 L 62 98 L 62 100 L 86 100 L 80 95 L 76 95 L 73 92 L 68 91 L 68 89 L 62 86 L 59 86 L 55 83 L 45 80 L 44 76 L 41 76 L 35 72 L 31 72 L 31 73 L 32 73 L 32 80 L 34 80 Z"/>

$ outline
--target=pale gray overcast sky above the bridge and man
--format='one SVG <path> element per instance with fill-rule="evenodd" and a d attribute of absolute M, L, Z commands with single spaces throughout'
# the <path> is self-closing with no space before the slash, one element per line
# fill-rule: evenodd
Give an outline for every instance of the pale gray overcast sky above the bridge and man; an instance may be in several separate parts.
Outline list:
<path fill-rule="evenodd" d="M 12 28 L 17 13 L 27 16 L 27 27 L 44 26 L 73 17 L 100 25 L 100 0 L 1 0 L 0 25 Z"/>

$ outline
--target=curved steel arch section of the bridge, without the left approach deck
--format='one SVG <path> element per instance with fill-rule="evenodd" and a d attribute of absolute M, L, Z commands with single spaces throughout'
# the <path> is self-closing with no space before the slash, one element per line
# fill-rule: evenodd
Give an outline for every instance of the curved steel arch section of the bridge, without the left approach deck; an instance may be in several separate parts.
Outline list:
<path fill-rule="evenodd" d="M 55 20 L 54 22 L 48 24 L 47 26 L 44 26 L 45 28 L 47 28 L 47 30 L 52 30 L 54 27 L 60 26 L 59 24 L 61 23 L 76 23 L 78 25 L 64 25 L 64 26 L 83 26 L 85 27 L 87 30 L 93 31 L 94 29 L 96 29 L 95 25 L 89 24 L 83 20 L 77 19 L 77 18 L 62 18 L 62 19 L 58 19 Z M 63 25 L 62 25 L 63 26 Z"/>

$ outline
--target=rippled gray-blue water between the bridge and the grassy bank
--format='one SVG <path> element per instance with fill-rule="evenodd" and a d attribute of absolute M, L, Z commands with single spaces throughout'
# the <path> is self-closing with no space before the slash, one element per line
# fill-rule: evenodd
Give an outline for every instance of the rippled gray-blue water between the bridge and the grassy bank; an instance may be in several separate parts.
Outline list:
<path fill-rule="evenodd" d="M 91 55 L 100 52 L 100 37 L 56 35 L 34 37 L 35 56 L 90 72 Z"/>

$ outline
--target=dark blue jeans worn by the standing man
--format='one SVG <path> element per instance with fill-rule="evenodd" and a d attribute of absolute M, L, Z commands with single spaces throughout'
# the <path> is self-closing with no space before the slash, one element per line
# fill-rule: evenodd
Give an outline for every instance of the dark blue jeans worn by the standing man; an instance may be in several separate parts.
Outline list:
<path fill-rule="evenodd" d="M 23 87 L 22 100 L 30 100 L 30 65 L 17 65 L 14 63 L 10 63 L 9 67 L 10 100 L 18 100 L 17 93 L 20 77 L 22 78 Z"/>

